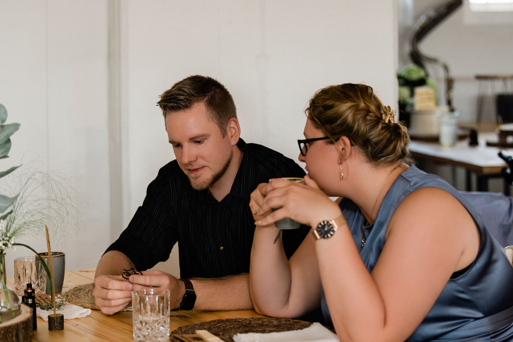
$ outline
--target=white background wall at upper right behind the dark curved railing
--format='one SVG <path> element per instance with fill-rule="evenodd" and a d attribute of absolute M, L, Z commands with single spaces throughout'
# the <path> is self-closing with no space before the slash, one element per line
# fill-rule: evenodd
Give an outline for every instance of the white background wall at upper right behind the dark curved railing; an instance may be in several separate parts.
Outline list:
<path fill-rule="evenodd" d="M 399 19 L 402 23 L 399 26 L 399 65 L 402 66 L 411 63 L 408 39 L 412 24 L 426 10 L 446 0 L 399 1 L 406 6 L 413 5 L 413 11 L 410 12 L 412 17 Z M 476 74 L 513 74 L 513 16 L 505 17 L 502 14 L 469 13 L 468 2 L 464 1 L 419 45 L 426 55 L 437 57 L 449 66 L 454 79 L 453 105 L 460 111 L 462 121 L 476 120 L 479 87 Z M 481 20 L 478 21 L 478 18 Z M 427 66 L 440 85 L 441 104 L 445 104 L 443 73 L 439 67 Z M 500 82 L 495 83 L 495 90 L 502 90 Z M 490 94 L 488 88 L 483 120 L 494 121 L 495 100 L 492 100 Z"/>

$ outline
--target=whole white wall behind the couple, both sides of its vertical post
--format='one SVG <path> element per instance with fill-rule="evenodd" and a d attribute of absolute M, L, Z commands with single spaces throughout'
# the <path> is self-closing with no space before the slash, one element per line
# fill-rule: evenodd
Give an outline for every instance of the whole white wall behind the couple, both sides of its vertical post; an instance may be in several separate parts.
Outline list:
<path fill-rule="evenodd" d="M 11 156 L 40 156 L 77 177 L 90 203 L 66 244 L 68 270 L 95 266 L 174 158 L 155 103 L 176 81 L 219 79 L 242 137 L 294 159 L 315 90 L 365 82 L 397 102 L 394 0 L 0 0 L 0 8 L 0 103 L 9 122 L 22 123 Z M 8 266 L 18 254 L 27 253 L 8 251 Z M 177 274 L 175 255 L 166 269 Z"/>

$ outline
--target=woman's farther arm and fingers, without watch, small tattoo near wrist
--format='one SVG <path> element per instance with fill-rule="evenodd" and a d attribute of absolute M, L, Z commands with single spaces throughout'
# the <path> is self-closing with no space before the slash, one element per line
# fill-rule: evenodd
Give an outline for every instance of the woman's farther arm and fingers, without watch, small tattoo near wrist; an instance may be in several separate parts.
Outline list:
<path fill-rule="evenodd" d="M 260 209 L 266 184 L 251 194 L 253 214 Z M 255 220 L 262 216 L 254 215 Z M 271 224 L 255 229 L 249 268 L 249 287 L 258 313 L 296 318 L 319 307 L 321 279 L 313 239 L 307 235 L 297 251 L 287 260 L 280 231 Z"/>

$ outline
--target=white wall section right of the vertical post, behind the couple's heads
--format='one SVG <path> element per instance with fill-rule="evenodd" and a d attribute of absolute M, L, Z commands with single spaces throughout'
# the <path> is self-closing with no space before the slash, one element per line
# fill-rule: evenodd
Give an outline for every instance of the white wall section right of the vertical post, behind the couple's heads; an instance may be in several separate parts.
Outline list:
<path fill-rule="evenodd" d="M 365 82 L 396 103 L 395 1 L 151 1 L 126 11 L 130 212 L 174 158 L 158 95 L 188 75 L 228 88 L 246 142 L 294 160 L 316 90 Z"/>

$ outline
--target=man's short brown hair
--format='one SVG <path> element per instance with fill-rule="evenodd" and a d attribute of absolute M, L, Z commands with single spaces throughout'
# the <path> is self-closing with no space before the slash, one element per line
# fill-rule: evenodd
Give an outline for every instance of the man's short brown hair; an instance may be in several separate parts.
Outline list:
<path fill-rule="evenodd" d="M 226 135 L 229 120 L 237 117 L 230 92 L 216 79 L 208 76 L 186 77 L 166 90 L 160 98 L 157 106 L 162 109 L 164 118 L 168 113 L 189 109 L 203 102 L 208 115 L 218 125 L 223 137 Z"/>

